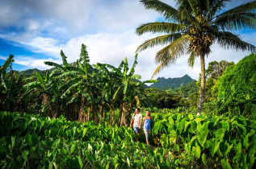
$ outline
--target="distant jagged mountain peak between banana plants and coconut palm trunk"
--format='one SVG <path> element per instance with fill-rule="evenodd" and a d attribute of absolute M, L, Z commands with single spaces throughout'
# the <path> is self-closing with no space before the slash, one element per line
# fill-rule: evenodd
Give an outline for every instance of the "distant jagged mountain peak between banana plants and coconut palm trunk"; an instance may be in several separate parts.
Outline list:
<path fill-rule="evenodd" d="M 168 78 L 168 79 L 164 77 L 158 77 L 157 80 L 158 80 L 157 83 L 154 83 L 149 87 L 162 89 L 162 90 L 178 89 L 180 86 L 186 85 L 187 83 L 193 81 L 193 79 L 187 74 L 183 77 L 175 77 L 175 78 Z"/>

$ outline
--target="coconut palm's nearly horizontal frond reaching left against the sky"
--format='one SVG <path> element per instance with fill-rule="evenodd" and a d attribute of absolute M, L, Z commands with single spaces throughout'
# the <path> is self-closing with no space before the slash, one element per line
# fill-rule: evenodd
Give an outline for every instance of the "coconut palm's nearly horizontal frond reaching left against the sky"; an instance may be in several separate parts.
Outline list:
<path fill-rule="evenodd" d="M 164 23 L 164 22 L 155 22 L 155 23 L 145 23 L 141 24 L 136 28 L 136 34 L 142 35 L 146 32 L 152 33 L 177 33 L 183 30 L 183 25 L 179 23 Z"/>

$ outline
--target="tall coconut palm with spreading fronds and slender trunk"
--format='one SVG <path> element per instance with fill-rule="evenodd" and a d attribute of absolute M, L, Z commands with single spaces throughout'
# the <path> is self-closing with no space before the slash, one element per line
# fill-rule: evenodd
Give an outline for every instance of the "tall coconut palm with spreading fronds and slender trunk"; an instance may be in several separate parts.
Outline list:
<path fill-rule="evenodd" d="M 244 42 L 239 35 L 230 31 L 256 28 L 256 1 L 247 2 L 220 13 L 230 0 L 176 0 L 177 8 L 158 0 L 141 0 L 146 9 L 156 10 L 166 22 L 145 23 L 136 28 L 136 34 L 146 32 L 166 33 L 146 40 L 136 50 L 167 45 L 155 57 L 158 65 L 155 76 L 162 68 L 174 64 L 178 57 L 189 55 L 187 63 L 193 68 L 195 58 L 200 57 L 201 87 L 197 113 L 204 103 L 205 63 L 204 58 L 211 52 L 212 43 L 225 49 L 256 52 L 256 47 Z"/>

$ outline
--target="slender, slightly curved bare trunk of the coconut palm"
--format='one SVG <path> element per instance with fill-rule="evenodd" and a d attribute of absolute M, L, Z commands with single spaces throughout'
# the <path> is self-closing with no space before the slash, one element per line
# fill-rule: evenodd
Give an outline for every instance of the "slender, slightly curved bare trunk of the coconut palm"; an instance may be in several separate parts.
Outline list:
<path fill-rule="evenodd" d="M 201 89 L 200 89 L 200 97 L 199 104 L 196 110 L 196 114 L 199 115 L 202 112 L 203 104 L 204 104 L 204 92 L 205 92 L 205 63 L 204 63 L 204 53 L 200 54 L 201 61 Z"/>

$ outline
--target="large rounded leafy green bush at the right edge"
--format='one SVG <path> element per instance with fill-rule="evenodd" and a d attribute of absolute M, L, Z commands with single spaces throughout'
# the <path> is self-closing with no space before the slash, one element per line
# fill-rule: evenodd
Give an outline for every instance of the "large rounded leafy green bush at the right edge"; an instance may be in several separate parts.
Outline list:
<path fill-rule="evenodd" d="M 256 118 L 256 55 L 225 70 L 218 83 L 220 111 Z"/>

